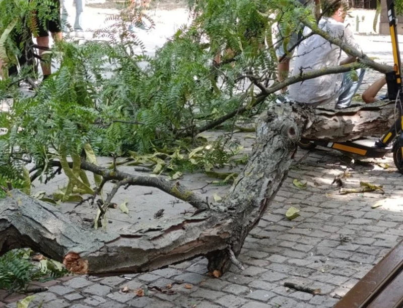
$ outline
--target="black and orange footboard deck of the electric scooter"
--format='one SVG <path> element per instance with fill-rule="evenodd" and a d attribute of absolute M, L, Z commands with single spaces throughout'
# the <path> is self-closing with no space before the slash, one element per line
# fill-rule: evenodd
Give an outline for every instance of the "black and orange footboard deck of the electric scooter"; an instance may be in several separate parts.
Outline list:
<path fill-rule="evenodd" d="M 336 149 L 342 152 L 365 156 L 369 158 L 383 157 L 386 153 L 390 152 L 392 147 L 379 148 L 375 145 L 375 140 L 372 139 L 358 139 L 347 142 L 325 142 L 314 141 L 315 144 L 324 146 L 331 149 Z"/>

